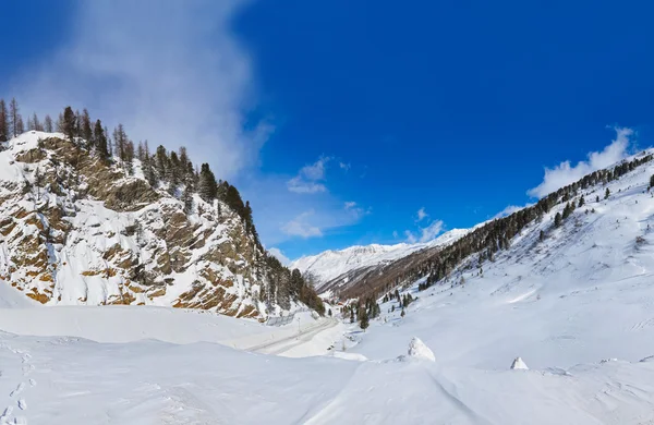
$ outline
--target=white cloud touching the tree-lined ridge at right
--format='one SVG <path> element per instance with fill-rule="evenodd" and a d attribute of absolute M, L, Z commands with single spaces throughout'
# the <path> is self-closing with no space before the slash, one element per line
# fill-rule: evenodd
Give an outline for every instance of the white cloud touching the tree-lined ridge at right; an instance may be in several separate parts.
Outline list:
<path fill-rule="evenodd" d="M 630 137 L 633 130 L 627 127 L 615 127 L 616 138 L 602 151 L 593 151 L 588 160 L 579 161 L 571 167 L 570 161 L 564 161 L 553 169 L 545 168 L 543 182 L 526 193 L 533 197 L 543 197 L 570 183 L 580 180 L 585 174 L 606 168 L 620 161 L 629 154 Z"/>

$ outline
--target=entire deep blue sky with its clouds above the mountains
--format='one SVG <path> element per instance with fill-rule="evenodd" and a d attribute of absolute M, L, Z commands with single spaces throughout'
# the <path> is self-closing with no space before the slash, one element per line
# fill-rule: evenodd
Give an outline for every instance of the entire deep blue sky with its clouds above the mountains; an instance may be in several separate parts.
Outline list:
<path fill-rule="evenodd" d="M 291 258 L 470 227 L 654 138 L 645 1 L 41 0 L 3 15 L 0 96 L 189 146 Z"/>

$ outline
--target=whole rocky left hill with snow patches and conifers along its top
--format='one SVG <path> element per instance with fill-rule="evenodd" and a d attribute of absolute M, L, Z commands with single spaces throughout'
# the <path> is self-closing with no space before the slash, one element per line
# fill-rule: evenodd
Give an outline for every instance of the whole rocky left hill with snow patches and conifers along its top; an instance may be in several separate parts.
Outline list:
<path fill-rule="evenodd" d="M 153 149 L 122 124 L 109 131 L 71 107 L 55 121 L 34 113 L 25 127 L 15 99 L 0 100 L 0 142 L 10 165 L 0 174 L 9 253 L 0 278 L 28 296 L 259 318 L 303 303 L 324 314 L 302 275 L 263 247 L 250 202 L 209 163 L 194 165 L 184 146 Z M 101 231 L 89 233 L 89 221 Z M 82 250 L 90 264 L 75 263 Z M 29 265 L 35 256 L 43 260 Z M 74 283 L 61 280 L 68 274 Z"/>

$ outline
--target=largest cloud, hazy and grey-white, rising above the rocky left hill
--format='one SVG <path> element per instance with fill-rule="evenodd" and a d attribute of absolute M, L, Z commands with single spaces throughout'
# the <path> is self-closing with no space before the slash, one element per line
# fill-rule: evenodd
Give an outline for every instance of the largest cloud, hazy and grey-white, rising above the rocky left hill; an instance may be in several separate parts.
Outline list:
<path fill-rule="evenodd" d="M 134 141 L 189 147 L 220 178 L 256 163 L 274 131 L 246 122 L 252 66 L 231 21 L 247 0 L 75 2 L 71 35 L 12 82 L 27 112 L 87 107 Z"/>

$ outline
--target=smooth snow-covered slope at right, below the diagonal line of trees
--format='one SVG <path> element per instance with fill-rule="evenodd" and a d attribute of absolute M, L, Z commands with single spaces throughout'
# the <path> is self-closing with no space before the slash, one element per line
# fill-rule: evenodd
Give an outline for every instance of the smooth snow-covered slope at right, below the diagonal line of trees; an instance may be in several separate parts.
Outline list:
<path fill-rule="evenodd" d="M 404 290 L 417 298 L 405 317 L 397 301 L 383 303 L 382 323 L 352 351 L 387 359 L 416 335 L 441 364 L 480 368 L 508 367 L 517 356 L 544 369 L 654 354 L 652 174 L 654 161 L 582 190 L 574 199 L 583 195 L 585 205 L 560 227 L 554 218 L 566 203 L 528 224 L 493 260 L 480 264 L 473 254 L 419 291 L 424 276 Z"/>

